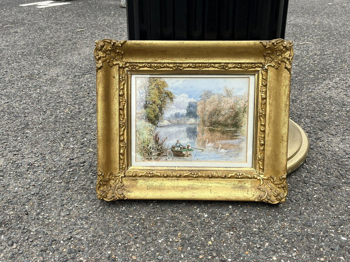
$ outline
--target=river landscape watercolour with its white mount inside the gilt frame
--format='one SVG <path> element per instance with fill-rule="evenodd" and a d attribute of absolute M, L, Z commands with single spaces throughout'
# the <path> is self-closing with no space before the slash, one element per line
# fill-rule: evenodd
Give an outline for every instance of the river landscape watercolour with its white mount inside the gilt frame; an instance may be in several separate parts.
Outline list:
<path fill-rule="evenodd" d="M 254 75 L 132 75 L 133 166 L 252 167 Z"/>

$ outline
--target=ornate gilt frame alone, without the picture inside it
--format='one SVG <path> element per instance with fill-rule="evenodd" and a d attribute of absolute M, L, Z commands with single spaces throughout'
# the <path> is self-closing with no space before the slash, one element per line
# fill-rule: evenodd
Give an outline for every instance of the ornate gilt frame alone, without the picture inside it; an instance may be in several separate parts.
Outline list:
<path fill-rule="evenodd" d="M 97 41 L 97 197 L 284 202 L 293 54 L 293 43 L 283 39 Z M 255 75 L 252 168 L 130 165 L 131 75 L 159 72 Z"/>

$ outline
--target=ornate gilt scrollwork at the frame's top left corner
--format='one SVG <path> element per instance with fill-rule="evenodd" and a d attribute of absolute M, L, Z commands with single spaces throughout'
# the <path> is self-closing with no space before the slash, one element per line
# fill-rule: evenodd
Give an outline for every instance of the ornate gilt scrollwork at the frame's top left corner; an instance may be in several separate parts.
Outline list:
<path fill-rule="evenodd" d="M 119 67 L 124 67 L 124 52 L 121 50 L 121 47 L 125 42 L 125 40 L 116 41 L 111 39 L 96 41 L 93 52 L 96 60 L 96 72 L 103 67 L 103 62 L 105 61 L 109 66 L 119 65 Z"/>

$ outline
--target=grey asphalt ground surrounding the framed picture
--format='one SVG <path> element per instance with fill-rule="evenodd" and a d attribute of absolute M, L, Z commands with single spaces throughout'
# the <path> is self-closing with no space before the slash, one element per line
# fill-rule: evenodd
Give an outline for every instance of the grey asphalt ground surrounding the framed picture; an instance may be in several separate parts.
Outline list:
<path fill-rule="evenodd" d="M 279 205 L 97 200 L 94 41 L 127 38 L 125 9 L 28 2 L 0 2 L 1 262 L 350 261 L 348 0 L 289 3 L 310 153 Z"/>

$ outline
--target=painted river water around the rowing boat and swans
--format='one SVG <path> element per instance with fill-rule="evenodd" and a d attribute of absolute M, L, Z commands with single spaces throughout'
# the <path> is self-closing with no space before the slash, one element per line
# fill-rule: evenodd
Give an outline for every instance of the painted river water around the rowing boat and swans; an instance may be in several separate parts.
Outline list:
<path fill-rule="evenodd" d="M 167 155 L 160 155 L 154 160 L 159 161 L 246 161 L 246 128 L 207 127 L 200 124 L 171 124 L 157 127 L 160 137 L 167 137 L 168 147 L 176 140 L 184 146 L 201 148 L 194 149 L 190 157 L 174 157 L 171 151 Z M 207 143 L 208 144 L 205 146 Z M 220 146 L 221 145 L 221 146 Z M 220 148 L 220 151 L 218 151 Z"/>

